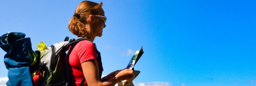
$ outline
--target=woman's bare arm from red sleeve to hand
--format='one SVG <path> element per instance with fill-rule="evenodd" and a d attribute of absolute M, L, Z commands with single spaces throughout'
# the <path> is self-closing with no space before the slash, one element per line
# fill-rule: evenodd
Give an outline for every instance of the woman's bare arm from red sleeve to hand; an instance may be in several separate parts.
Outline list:
<path fill-rule="evenodd" d="M 132 78 L 133 71 L 132 70 L 122 70 L 115 77 L 110 78 L 105 82 L 101 82 L 99 78 L 99 69 L 98 63 L 96 60 L 89 60 L 83 62 L 82 69 L 84 73 L 85 80 L 88 85 L 92 86 L 101 86 L 101 85 L 115 85 L 117 82 L 121 80 L 126 80 Z"/>

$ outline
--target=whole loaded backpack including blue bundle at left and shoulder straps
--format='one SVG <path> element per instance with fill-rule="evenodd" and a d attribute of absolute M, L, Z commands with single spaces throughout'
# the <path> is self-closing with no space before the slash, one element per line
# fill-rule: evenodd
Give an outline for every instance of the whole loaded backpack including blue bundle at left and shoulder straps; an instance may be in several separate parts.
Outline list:
<path fill-rule="evenodd" d="M 69 37 L 66 37 L 63 42 L 55 43 L 50 47 L 34 52 L 31 49 L 30 38 L 25 38 L 24 33 L 12 32 L 1 36 L 0 47 L 6 52 L 4 62 L 9 70 L 9 81 L 6 82 L 6 85 L 70 85 L 70 66 L 66 51 L 69 48 L 69 50 L 74 48 L 74 46 L 69 47 L 70 45 L 89 39 L 77 37 L 77 39 L 68 40 Z M 103 68 L 100 52 L 96 46 L 95 50 L 97 51 L 97 60 L 100 63 L 101 77 Z M 21 63 L 26 63 L 26 65 L 20 65 Z M 19 74 L 13 75 L 13 73 Z M 80 85 L 84 81 L 85 78 Z"/>

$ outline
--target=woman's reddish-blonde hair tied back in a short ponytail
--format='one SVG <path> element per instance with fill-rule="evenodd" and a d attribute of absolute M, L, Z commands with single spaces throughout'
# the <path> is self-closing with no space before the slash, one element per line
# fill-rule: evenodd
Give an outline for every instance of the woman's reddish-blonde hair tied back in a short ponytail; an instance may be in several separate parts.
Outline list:
<path fill-rule="evenodd" d="M 90 35 L 86 28 L 86 15 L 97 15 L 102 7 L 103 3 L 94 3 L 91 1 L 83 1 L 77 7 L 74 16 L 68 23 L 68 29 L 74 35 L 78 37 L 87 38 Z"/>

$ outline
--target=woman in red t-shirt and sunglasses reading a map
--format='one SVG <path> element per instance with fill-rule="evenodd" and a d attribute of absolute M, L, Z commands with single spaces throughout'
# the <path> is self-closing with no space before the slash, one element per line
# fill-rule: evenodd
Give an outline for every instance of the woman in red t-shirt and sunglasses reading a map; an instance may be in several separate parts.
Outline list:
<path fill-rule="evenodd" d="M 102 64 L 100 58 L 97 58 L 99 52 L 92 42 L 96 36 L 102 36 L 102 30 L 106 27 L 107 17 L 101 7 L 102 3 L 83 1 L 77 6 L 74 16 L 69 21 L 71 33 L 89 39 L 79 41 L 73 45 L 74 49 L 69 51 L 69 63 L 73 71 L 71 85 L 79 85 L 83 78 L 86 80 L 83 85 L 115 85 L 121 80 L 133 77 L 132 70 L 124 69 L 108 74 L 102 79 L 104 81 L 100 79 Z"/>

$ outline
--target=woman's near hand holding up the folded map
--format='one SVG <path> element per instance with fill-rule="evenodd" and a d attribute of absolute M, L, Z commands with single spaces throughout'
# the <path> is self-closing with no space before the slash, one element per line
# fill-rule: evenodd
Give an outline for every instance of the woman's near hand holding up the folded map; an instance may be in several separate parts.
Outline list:
<path fill-rule="evenodd" d="M 129 70 L 129 69 L 124 69 L 122 71 L 120 71 L 117 75 L 117 78 L 121 79 L 121 80 L 129 80 L 133 78 L 133 70 Z"/>

